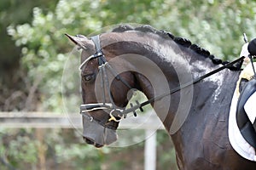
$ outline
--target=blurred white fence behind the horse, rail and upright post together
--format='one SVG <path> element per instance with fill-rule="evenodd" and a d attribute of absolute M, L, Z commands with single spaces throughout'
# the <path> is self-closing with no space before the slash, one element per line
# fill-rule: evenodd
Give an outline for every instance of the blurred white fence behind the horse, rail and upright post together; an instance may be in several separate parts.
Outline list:
<path fill-rule="evenodd" d="M 82 128 L 82 116 L 79 114 L 56 114 L 50 112 L 0 112 L 0 127 L 7 128 Z M 162 123 L 154 111 L 137 117 L 128 117 L 119 123 L 120 129 L 144 129 L 144 169 L 156 168 L 156 129 L 163 129 Z"/>

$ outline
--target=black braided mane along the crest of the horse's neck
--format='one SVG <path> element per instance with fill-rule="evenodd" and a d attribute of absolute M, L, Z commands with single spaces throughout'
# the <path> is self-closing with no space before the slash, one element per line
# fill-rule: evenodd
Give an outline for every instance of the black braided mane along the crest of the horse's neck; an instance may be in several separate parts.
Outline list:
<path fill-rule="evenodd" d="M 116 27 L 113 29 L 113 32 L 125 32 L 125 31 L 142 31 L 142 32 L 151 32 L 154 34 L 159 35 L 160 37 L 163 38 L 171 38 L 174 42 L 176 42 L 177 44 L 186 47 L 186 48 L 190 48 L 193 51 L 195 51 L 195 53 L 197 54 L 201 54 L 206 58 L 209 58 L 212 60 L 212 63 L 215 65 L 226 65 L 229 63 L 229 61 L 223 61 L 222 59 L 218 59 L 216 58 L 214 55 L 210 54 L 210 52 L 207 49 L 201 48 L 199 45 L 197 44 L 193 44 L 192 42 L 190 42 L 188 39 L 183 38 L 183 37 L 175 37 L 171 32 L 168 31 L 162 31 L 162 30 L 156 30 L 154 29 L 152 26 L 138 26 L 138 27 L 131 27 L 128 25 L 121 25 L 119 27 Z M 230 70 L 232 71 L 240 71 L 241 70 L 241 63 L 237 63 L 235 65 L 231 65 L 229 67 Z"/>

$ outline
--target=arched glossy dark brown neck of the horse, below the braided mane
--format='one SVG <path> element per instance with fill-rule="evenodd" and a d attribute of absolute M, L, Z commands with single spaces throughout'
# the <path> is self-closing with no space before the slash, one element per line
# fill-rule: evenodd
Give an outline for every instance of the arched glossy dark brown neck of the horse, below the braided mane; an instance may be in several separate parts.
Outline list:
<path fill-rule="evenodd" d="M 103 42 L 105 44 L 106 42 L 108 43 L 107 51 L 113 56 L 129 54 L 127 55 L 127 60 L 129 60 L 128 58 L 131 58 L 131 54 L 137 54 L 135 56 L 137 59 L 145 57 L 160 68 L 161 72 L 156 73 L 154 69 L 145 64 L 146 62 L 131 64 L 128 61 L 135 69 L 149 67 L 150 69 L 146 69 L 144 72 L 148 73 L 148 77 L 154 75 L 152 78 L 145 78 L 143 74 L 137 73 L 140 88 L 148 99 L 160 94 L 166 94 L 173 88 L 191 82 L 195 78 L 201 77 L 221 66 L 213 64 L 212 59 L 196 53 L 195 50 L 177 44 L 170 37 L 161 37 L 155 33 L 137 31 L 111 33 L 108 41 L 103 39 Z M 160 79 L 163 75 L 164 80 Z M 164 99 L 155 101 L 154 110 L 170 132 L 176 115 L 182 115 L 179 119 L 186 119 L 189 116 L 189 112 L 191 112 L 191 108 L 196 112 L 203 110 L 206 106 L 214 107 L 220 104 L 219 101 L 223 101 L 224 96 L 230 102 L 231 91 L 235 87 L 237 77 L 238 74 L 234 74 L 233 71 L 220 71 L 195 85 L 172 94 L 172 97 L 169 95 Z M 165 80 L 167 85 L 164 83 Z M 152 81 L 155 82 L 154 87 Z M 186 107 L 183 107 L 184 105 Z M 184 115 L 183 113 L 186 114 Z M 175 125 L 176 128 L 171 133 L 177 132 L 180 124 L 181 122 L 178 122 L 178 125 Z"/>

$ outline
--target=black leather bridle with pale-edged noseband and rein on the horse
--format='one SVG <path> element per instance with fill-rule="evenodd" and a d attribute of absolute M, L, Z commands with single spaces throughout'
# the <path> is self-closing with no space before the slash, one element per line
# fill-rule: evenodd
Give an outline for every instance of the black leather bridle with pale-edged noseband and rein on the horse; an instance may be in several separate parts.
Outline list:
<path fill-rule="evenodd" d="M 203 75 L 201 77 L 196 78 L 193 81 L 184 83 L 182 85 L 180 85 L 177 88 L 173 88 L 170 92 L 166 93 L 166 94 L 161 94 L 159 96 L 156 96 L 152 99 L 148 99 L 146 101 L 144 101 L 143 103 L 139 103 L 138 101 L 136 101 L 136 105 L 130 104 L 130 108 L 128 109 L 120 109 L 118 108 L 114 102 L 113 102 L 113 97 L 110 91 L 110 85 L 108 82 L 108 73 L 107 70 L 111 72 L 111 74 L 113 75 L 113 77 L 115 77 L 115 79 L 117 79 L 118 81 L 121 81 L 125 84 L 126 87 L 130 88 L 131 90 L 134 90 L 133 88 L 131 88 L 131 86 L 129 85 L 128 82 L 126 82 L 122 77 L 119 77 L 119 75 L 117 74 L 116 71 L 113 70 L 112 66 L 109 65 L 107 59 L 105 58 L 104 54 L 102 53 L 102 48 L 101 48 L 101 44 L 100 44 L 100 37 L 99 35 L 95 36 L 95 37 L 91 37 L 91 40 L 94 42 L 95 44 L 95 48 L 96 48 L 96 54 L 91 55 L 88 59 L 85 59 L 84 62 L 79 66 L 79 69 L 82 70 L 82 68 L 84 67 L 84 65 L 90 61 L 91 59 L 98 59 L 98 75 L 101 78 L 101 88 L 103 90 L 102 92 L 102 98 L 103 98 L 103 102 L 102 103 L 96 103 L 96 104 L 84 104 L 84 105 L 80 105 L 80 114 L 82 114 L 82 116 L 86 117 L 86 118 L 90 118 L 91 121 L 93 121 L 93 117 L 90 116 L 87 112 L 90 111 L 96 111 L 96 110 L 108 110 L 109 111 L 109 116 L 110 118 L 108 119 L 108 122 L 114 121 L 114 122 L 119 122 L 122 118 L 125 118 L 127 116 L 127 114 L 129 113 L 133 113 L 134 116 L 137 116 L 137 110 L 139 109 L 140 111 L 143 111 L 143 106 L 148 105 L 153 103 L 156 100 L 160 100 L 168 95 L 174 94 L 177 91 L 189 87 L 190 85 L 193 85 L 197 82 L 200 82 L 201 80 L 212 76 L 213 74 L 217 73 L 218 71 L 222 71 L 225 68 L 229 68 L 230 66 L 240 62 L 242 59 L 244 59 L 245 57 L 242 56 L 232 62 L 229 62 L 221 67 L 219 67 L 218 69 L 211 71 L 209 73 L 207 73 L 206 75 Z M 84 50 L 86 50 L 86 48 L 84 48 L 83 45 L 79 44 L 80 48 L 83 48 Z M 106 91 L 105 89 L 108 90 L 107 94 L 108 94 L 108 98 L 110 100 L 110 103 L 107 103 L 106 101 Z"/>

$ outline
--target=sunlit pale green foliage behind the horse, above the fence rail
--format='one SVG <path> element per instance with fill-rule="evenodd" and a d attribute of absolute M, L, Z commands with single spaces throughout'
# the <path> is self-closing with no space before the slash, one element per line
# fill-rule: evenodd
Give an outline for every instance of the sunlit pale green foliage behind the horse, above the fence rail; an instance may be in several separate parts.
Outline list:
<path fill-rule="evenodd" d="M 121 22 L 149 24 L 231 59 L 240 52 L 242 33 L 252 38 L 256 33 L 255 5 L 246 0 L 61 0 L 54 11 L 33 8 L 31 24 L 11 25 L 8 32 L 22 47 L 22 65 L 30 81 L 40 82 L 40 109 L 61 111 L 61 74 L 71 50 L 64 33 L 88 35 Z"/>

